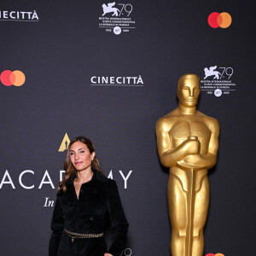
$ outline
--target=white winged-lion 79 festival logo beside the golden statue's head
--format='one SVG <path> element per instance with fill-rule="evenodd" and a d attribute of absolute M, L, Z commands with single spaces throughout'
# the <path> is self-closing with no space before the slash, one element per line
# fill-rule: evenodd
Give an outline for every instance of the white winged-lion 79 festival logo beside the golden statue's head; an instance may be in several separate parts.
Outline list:
<path fill-rule="evenodd" d="M 201 90 L 214 96 L 230 95 L 236 90 L 236 84 L 231 80 L 234 73 L 232 67 L 205 67 L 204 79 L 201 80 Z"/>

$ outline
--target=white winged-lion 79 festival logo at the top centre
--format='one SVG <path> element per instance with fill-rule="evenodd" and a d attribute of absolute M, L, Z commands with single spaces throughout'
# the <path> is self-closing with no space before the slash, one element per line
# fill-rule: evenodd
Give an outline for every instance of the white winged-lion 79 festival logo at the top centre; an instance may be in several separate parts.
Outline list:
<path fill-rule="evenodd" d="M 106 32 L 119 35 L 135 28 L 135 20 L 131 18 L 133 6 L 131 3 L 103 3 L 102 15 L 99 17 L 99 27 Z"/>

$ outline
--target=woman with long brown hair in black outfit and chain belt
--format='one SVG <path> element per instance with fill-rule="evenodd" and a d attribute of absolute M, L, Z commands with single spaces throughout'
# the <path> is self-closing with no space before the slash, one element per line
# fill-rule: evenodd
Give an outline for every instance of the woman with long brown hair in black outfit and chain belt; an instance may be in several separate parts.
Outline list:
<path fill-rule="evenodd" d="M 102 174 L 90 139 L 73 138 L 64 168 L 51 221 L 49 256 L 119 256 L 128 223 L 117 185 Z M 112 231 L 109 248 L 103 235 L 108 216 Z"/>

